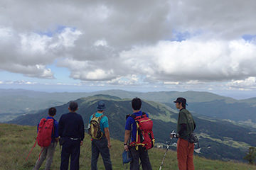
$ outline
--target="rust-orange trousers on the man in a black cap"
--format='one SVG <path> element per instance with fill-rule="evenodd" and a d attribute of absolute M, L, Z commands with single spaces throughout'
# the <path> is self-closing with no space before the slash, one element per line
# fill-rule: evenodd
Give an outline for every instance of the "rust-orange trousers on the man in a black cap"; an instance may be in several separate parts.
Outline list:
<path fill-rule="evenodd" d="M 189 143 L 188 140 L 178 139 L 177 144 L 177 159 L 179 170 L 194 170 L 193 165 L 193 151 L 194 144 Z"/>

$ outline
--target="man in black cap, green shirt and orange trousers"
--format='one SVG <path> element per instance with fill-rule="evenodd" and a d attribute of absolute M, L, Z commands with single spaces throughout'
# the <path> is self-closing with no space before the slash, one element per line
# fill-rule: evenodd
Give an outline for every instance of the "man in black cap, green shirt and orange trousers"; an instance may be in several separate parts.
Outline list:
<path fill-rule="evenodd" d="M 191 113 L 186 110 L 186 98 L 177 98 L 176 108 L 178 113 L 178 143 L 177 143 L 177 159 L 179 170 L 194 170 L 193 165 L 193 150 L 194 144 L 188 142 L 189 135 L 195 130 L 196 123 L 193 120 Z"/>

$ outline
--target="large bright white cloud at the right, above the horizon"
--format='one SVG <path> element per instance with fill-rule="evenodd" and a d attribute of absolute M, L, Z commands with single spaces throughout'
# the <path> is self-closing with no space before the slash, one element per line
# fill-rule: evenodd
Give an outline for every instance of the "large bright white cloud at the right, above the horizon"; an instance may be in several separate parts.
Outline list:
<path fill-rule="evenodd" d="M 256 75 L 256 45 L 245 40 L 161 41 L 120 56 L 130 72 L 160 81 L 228 81 Z"/>

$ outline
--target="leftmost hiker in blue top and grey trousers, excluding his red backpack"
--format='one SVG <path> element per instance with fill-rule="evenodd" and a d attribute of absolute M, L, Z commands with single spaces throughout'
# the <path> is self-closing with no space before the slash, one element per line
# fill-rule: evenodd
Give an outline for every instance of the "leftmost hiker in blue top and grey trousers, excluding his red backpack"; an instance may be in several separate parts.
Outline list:
<path fill-rule="evenodd" d="M 53 163 L 53 154 L 55 152 L 55 147 L 58 145 L 58 122 L 54 119 L 54 116 L 56 115 L 56 108 L 49 108 L 48 111 L 48 119 L 53 119 L 53 133 L 52 133 L 52 141 L 50 143 L 49 147 L 44 147 L 43 151 L 41 153 L 40 158 L 38 158 L 35 167 L 33 170 L 40 169 L 41 165 L 43 164 L 43 161 L 46 159 L 46 168 L 50 169 L 50 165 Z M 38 128 L 37 128 L 38 130 Z"/>

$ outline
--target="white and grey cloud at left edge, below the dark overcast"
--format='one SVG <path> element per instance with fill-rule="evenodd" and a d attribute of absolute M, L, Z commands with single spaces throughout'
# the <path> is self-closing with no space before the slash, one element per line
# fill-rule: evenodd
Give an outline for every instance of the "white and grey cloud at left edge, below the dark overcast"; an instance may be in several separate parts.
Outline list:
<path fill-rule="evenodd" d="M 0 29 L 0 69 L 20 73 L 27 77 L 54 79 L 47 68 L 65 51 L 74 46 L 82 34 L 79 30 L 65 28 L 61 33 L 48 37 L 38 33 L 17 33 L 12 28 Z"/>

